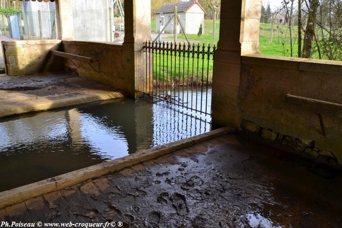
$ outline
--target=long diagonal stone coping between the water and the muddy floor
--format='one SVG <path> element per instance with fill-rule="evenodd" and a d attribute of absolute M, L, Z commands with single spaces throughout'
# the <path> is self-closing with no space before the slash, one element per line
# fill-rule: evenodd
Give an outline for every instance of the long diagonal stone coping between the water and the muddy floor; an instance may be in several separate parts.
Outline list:
<path fill-rule="evenodd" d="M 28 199 L 42 196 L 44 194 L 62 190 L 66 187 L 78 185 L 87 180 L 95 179 L 155 159 L 160 156 L 175 152 L 177 150 L 198 144 L 219 136 L 235 132 L 233 127 L 222 127 L 201 135 L 183 139 L 166 145 L 157 146 L 151 149 L 142 150 L 134 154 L 104 162 L 95 166 L 89 166 L 57 177 L 49 178 L 40 182 L 17 187 L 11 190 L 0 192 L 0 209 L 14 204 L 24 202 Z"/>

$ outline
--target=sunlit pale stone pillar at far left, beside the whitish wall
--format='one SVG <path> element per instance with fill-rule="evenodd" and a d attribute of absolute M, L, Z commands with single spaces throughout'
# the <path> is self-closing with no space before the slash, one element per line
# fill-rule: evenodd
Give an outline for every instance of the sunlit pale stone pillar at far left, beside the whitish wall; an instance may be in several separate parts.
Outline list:
<path fill-rule="evenodd" d="M 72 0 L 56 0 L 57 39 L 74 40 Z"/>

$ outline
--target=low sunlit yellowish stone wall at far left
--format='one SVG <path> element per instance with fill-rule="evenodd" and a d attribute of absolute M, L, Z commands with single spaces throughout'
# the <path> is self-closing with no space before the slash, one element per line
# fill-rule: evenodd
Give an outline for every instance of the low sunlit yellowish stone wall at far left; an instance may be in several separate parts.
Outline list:
<path fill-rule="evenodd" d="M 63 59 L 50 55 L 60 40 L 1 41 L 6 74 L 10 76 L 61 71 Z"/>

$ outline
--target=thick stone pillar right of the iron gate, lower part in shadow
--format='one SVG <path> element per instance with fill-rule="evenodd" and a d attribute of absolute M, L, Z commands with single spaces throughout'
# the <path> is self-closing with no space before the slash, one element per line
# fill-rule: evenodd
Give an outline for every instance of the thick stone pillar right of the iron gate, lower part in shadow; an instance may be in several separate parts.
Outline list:
<path fill-rule="evenodd" d="M 259 53 L 261 4 L 262 0 L 221 1 L 213 78 L 215 126 L 240 125 L 241 55 Z"/>

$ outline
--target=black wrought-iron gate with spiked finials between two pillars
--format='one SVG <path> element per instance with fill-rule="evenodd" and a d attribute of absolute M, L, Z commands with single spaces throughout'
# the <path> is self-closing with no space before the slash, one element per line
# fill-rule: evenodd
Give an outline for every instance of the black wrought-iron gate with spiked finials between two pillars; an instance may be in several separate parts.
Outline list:
<path fill-rule="evenodd" d="M 212 115 L 215 46 L 144 43 L 150 96 L 205 116 Z"/>

